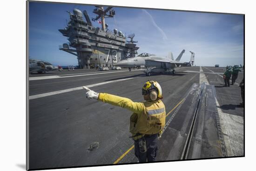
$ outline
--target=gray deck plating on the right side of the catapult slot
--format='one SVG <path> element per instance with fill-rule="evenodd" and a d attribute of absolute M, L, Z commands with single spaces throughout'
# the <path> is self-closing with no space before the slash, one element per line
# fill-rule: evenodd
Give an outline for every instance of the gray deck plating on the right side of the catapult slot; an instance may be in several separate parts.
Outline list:
<path fill-rule="evenodd" d="M 206 85 L 200 101 L 187 159 L 226 157 L 216 117 L 215 88 Z"/>

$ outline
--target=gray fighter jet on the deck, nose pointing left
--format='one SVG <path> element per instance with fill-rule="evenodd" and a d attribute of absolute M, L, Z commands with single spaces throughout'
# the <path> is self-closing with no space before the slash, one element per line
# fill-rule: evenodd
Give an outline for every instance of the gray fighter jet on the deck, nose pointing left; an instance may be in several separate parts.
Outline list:
<path fill-rule="evenodd" d="M 139 67 L 145 66 L 147 68 L 146 75 L 150 76 L 152 73 L 164 73 L 169 72 L 175 74 L 175 67 L 193 66 L 195 61 L 195 53 L 190 51 L 191 57 L 189 62 L 181 62 L 180 59 L 185 50 L 179 54 L 174 60 L 172 52 L 168 53 L 167 57 L 159 57 L 149 53 L 141 53 L 137 57 L 128 58 L 115 63 L 115 66 L 120 67 Z"/>

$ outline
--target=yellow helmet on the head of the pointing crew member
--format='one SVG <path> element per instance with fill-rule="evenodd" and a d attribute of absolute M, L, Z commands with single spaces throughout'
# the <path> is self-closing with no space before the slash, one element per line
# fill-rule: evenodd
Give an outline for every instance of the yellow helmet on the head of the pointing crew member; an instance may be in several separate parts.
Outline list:
<path fill-rule="evenodd" d="M 144 84 L 142 87 L 142 95 L 147 95 L 150 93 L 150 91 L 155 90 L 158 95 L 157 97 L 162 99 L 162 88 L 160 84 L 156 81 L 148 81 Z"/>

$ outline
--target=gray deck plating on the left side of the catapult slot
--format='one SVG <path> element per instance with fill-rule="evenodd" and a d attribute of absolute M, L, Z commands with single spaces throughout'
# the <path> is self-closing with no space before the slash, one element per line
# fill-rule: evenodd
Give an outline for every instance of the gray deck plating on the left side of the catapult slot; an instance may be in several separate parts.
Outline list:
<path fill-rule="evenodd" d="M 199 84 L 193 84 L 189 89 L 188 96 L 179 109 L 175 118 L 166 128 L 159 142 L 159 155 L 157 160 L 179 160 L 182 158 L 189 127 L 197 106 L 197 94 Z"/>

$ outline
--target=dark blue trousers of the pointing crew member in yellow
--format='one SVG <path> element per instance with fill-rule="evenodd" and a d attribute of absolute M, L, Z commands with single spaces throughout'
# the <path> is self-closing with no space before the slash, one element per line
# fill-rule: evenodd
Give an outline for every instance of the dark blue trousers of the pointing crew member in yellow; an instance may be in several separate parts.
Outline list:
<path fill-rule="evenodd" d="M 146 140 L 147 152 L 141 153 L 139 147 L 139 140 L 135 140 L 135 156 L 139 159 L 139 162 L 152 162 L 155 161 L 156 151 L 157 151 L 157 142 L 158 134 L 145 135 L 141 139 Z"/>

